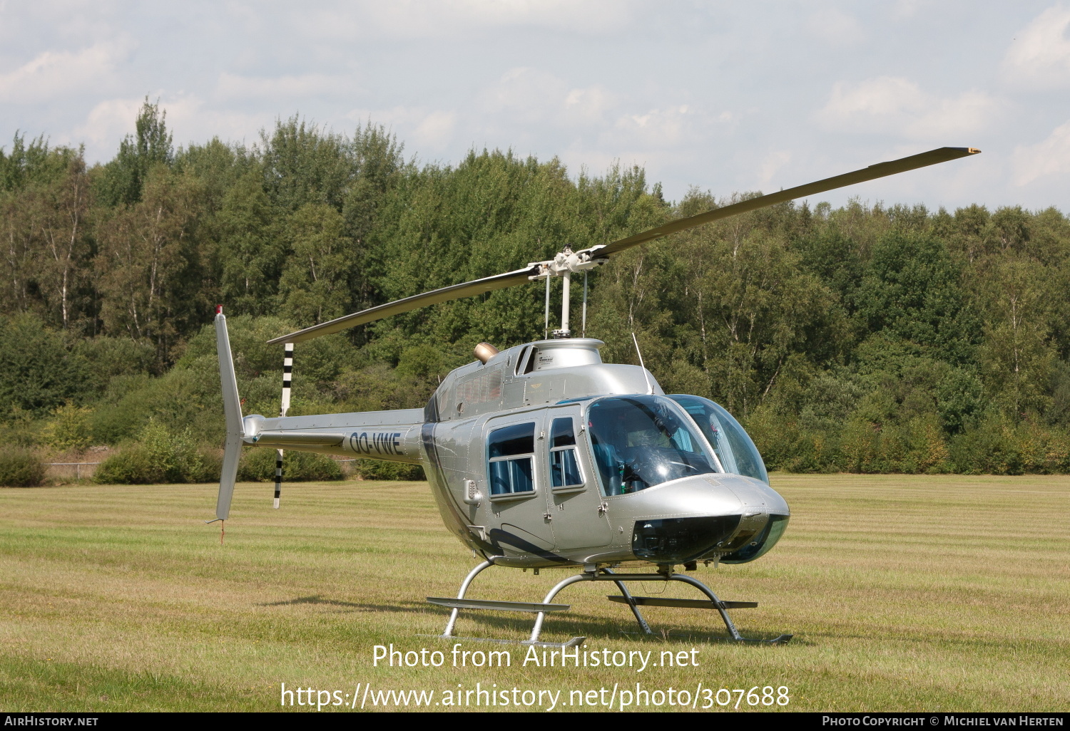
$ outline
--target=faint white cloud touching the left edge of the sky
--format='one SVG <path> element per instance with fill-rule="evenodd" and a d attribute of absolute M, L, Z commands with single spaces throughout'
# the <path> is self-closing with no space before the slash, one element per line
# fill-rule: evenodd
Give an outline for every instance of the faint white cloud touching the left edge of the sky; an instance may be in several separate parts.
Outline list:
<path fill-rule="evenodd" d="M 29 63 L 0 74 L 0 102 L 40 104 L 72 93 L 96 92 L 109 85 L 129 44 L 98 43 L 80 51 L 47 50 Z"/>

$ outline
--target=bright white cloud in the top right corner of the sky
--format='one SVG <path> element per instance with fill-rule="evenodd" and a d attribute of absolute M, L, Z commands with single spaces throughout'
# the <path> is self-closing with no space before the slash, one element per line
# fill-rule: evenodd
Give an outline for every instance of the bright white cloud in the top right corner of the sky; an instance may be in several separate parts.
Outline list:
<path fill-rule="evenodd" d="M 1003 61 L 1004 79 L 1034 89 L 1070 85 L 1070 10 L 1049 7 L 1014 36 Z"/>

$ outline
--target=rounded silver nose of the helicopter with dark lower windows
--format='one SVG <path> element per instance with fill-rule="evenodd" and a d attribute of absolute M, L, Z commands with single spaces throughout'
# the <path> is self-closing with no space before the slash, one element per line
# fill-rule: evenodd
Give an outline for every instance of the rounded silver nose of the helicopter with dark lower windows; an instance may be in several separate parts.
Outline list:
<path fill-rule="evenodd" d="M 789 514 L 788 502 L 776 491 L 737 475 L 685 478 L 629 495 L 618 504 L 633 520 L 636 558 L 655 563 L 734 556 L 743 547 L 750 548 L 744 560 L 752 560 L 768 549 L 762 550 L 768 526 Z M 780 532 L 782 528 L 776 538 Z"/>

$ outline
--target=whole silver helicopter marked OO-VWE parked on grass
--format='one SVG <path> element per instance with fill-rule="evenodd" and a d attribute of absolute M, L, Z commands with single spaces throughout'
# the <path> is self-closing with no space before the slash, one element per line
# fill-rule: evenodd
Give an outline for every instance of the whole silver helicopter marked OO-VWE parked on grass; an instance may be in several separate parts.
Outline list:
<path fill-rule="evenodd" d="M 720 615 L 732 641 L 750 641 L 739 634 L 728 610 L 758 604 L 722 601 L 689 573 L 699 562 L 747 563 L 764 556 L 784 533 L 791 517 L 788 502 L 769 485 L 762 456 L 739 422 L 703 396 L 666 394 L 643 364 L 638 341 L 639 366 L 602 362 L 599 348 L 605 343 L 582 337 L 587 274 L 622 251 L 678 231 L 979 152 L 939 147 L 676 219 L 612 243 L 578 251 L 565 246 L 552 260 L 275 338 L 269 343 L 285 346 L 281 409 L 276 418 L 243 417 L 227 321 L 217 307 L 227 438 L 216 517 L 208 523 L 229 517 L 243 446 L 277 451 L 275 508 L 282 450 L 421 465 L 446 528 L 472 550 L 473 558 L 482 559 L 456 597 L 427 597 L 450 609 L 441 637 L 454 637 L 461 609 L 519 611 L 535 615 L 525 644 L 575 647 L 585 638 L 540 639 L 547 613 L 570 608 L 554 603 L 555 596 L 572 584 L 609 581 L 620 594 L 608 598 L 628 605 L 645 634 L 652 629 L 642 606 L 703 608 Z M 580 273 L 581 337 L 572 337 L 569 289 L 572 276 Z M 479 343 L 475 360 L 452 371 L 424 408 L 287 416 L 296 343 L 538 280 L 546 284 L 549 329 L 554 277 L 562 278 L 563 286 L 561 328 L 553 330 L 553 337 L 504 351 Z M 491 566 L 535 573 L 578 569 L 579 573 L 557 582 L 541 602 L 468 598 L 473 580 Z M 684 582 L 703 597 L 637 596 L 627 586 L 648 581 Z M 782 643 L 791 637 L 753 641 Z"/>

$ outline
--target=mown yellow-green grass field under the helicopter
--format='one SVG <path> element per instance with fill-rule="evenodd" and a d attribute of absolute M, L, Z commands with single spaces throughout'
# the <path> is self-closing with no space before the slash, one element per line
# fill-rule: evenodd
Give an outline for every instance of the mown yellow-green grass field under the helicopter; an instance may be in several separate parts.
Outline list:
<path fill-rule="evenodd" d="M 637 682 L 686 689 L 700 709 L 710 697 L 699 683 L 786 686 L 788 710 L 1070 710 L 1070 479 L 773 484 L 794 514 L 780 544 L 754 563 L 697 575 L 722 598 L 760 603 L 733 611 L 744 635 L 794 633 L 790 644 L 731 644 L 715 612 L 657 607 L 645 613 L 660 634 L 643 638 L 625 634 L 636 629 L 627 607 L 606 601 L 612 585 L 560 595 L 572 610 L 548 618 L 544 639 L 584 635 L 588 652 L 652 651 L 655 663 L 666 650 L 698 649 L 699 667 L 642 672 L 525 667 L 519 644 L 475 641 L 462 649 L 509 650 L 511 667 L 452 667 L 453 643 L 425 636 L 442 632 L 446 610 L 424 597 L 455 594 L 474 561 L 424 483 L 289 485 L 278 511 L 271 485 L 242 484 L 221 546 L 218 524 L 202 523 L 211 485 L 0 489 L 0 710 L 271 711 L 280 683 L 366 701 L 433 690 L 432 710 L 444 710 L 433 705 L 444 691 L 479 683 L 510 702 L 560 690 L 556 710 L 580 710 L 571 691 L 605 687 L 609 700 L 614 684 L 620 694 Z M 469 595 L 540 601 L 566 575 L 490 569 Z M 666 592 L 697 596 L 683 585 Z M 530 623 L 469 611 L 457 634 L 523 639 Z M 389 643 L 444 651 L 445 664 L 372 667 L 372 647 Z"/>

